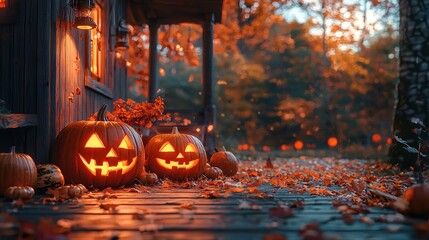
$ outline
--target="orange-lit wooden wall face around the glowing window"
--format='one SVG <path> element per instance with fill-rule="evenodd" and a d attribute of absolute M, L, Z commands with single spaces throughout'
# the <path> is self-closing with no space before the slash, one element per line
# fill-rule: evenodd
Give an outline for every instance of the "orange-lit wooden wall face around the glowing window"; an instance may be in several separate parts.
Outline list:
<path fill-rule="evenodd" d="M 65 4 L 65 3 L 64 3 Z M 110 1 L 105 1 L 103 19 L 104 26 L 112 23 L 109 13 Z M 116 3 L 116 17 L 124 16 L 121 13 L 120 4 Z M 106 97 L 97 91 L 85 86 L 85 67 L 87 61 L 87 49 L 85 41 L 88 33 L 75 29 L 71 23 L 57 22 L 56 28 L 56 87 L 55 87 L 55 128 L 57 135 L 65 126 L 72 122 L 87 119 L 104 104 L 107 103 L 112 109 L 112 102 L 117 98 L 126 97 L 126 66 L 125 62 L 115 58 L 114 49 L 109 49 L 109 27 L 105 28 L 105 39 L 103 48 L 108 50 L 106 56 L 105 77 L 113 78 L 112 98 Z M 114 44 L 114 43 L 113 43 Z M 112 44 L 110 44 L 112 45 Z M 79 88 L 81 93 L 76 94 Z M 69 97 L 73 97 L 71 100 Z"/>

